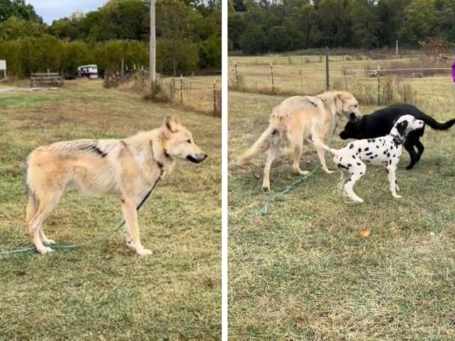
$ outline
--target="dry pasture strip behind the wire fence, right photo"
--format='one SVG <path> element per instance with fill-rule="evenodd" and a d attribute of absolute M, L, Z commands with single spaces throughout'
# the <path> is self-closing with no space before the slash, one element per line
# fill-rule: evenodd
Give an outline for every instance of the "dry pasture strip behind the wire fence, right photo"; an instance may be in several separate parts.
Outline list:
<path fill-rule="evenodd" d="M 406 96 L 402 94 L 405 91 L 402 90 L 403 84 L 410 85 L 410 89 L 420 98 L 433 96 L 433 92 L 424 91 L 427 89 L 424 85 L 428 77 L 419 78 L 420 74 L 439 78 L 438 82 L 444 82 L 444 79 L 450 77 L 450 70 L 396 71 L 402 68 L 450 68 L 450 64 L 428 63 L 417 57 L 350 60 L 348 56 L 333 56 L 330 60 L 331 89 L 353 92 L 368 104 L 378 102 L 378 77 L 373 73 L 378 70 L 378 66 L 382 70 L 380 72 L 382 102 L 387 101 L 386 94 L 383 93 L 387 78 L 395 82 L 397 99 L 407 100 L 403 98 Z M 235 63 L 237 63 L 237 77 Z M 273 70 L 270 68 L 270 63 L 273 63 Z M 316 94 L 326 87 L 326 60 L 325 57 L 319 58 L 319 56 L 231 57 L 228 77 L 231 90 L 282 95 Z"/>

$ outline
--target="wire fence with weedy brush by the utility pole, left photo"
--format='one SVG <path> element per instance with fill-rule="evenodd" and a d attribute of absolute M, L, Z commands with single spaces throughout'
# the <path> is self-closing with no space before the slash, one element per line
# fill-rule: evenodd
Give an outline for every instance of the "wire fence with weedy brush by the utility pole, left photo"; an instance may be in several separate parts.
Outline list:
<path fill-rule="evenodd" d="M 106 72 L 105 87 L 136 88 L 159 102 L 171 102 L 178 107 L 221 116 L 220 79 L 208 76 L 169 77 L 156 75 L 156 94 L 149 94 L 149 71 L 132 68 Z M 159 91 L 158 91 L 159 90 Z"/>

